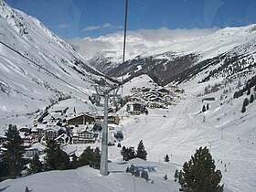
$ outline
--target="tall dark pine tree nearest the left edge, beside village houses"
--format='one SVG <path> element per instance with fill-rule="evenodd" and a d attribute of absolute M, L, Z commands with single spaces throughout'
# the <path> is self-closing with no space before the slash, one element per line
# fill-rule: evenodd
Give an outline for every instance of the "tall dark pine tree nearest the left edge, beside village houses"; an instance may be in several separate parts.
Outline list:
<path fill-rule="evenodd" d="M 7 143 L 4 144 L 4 147 L 7 150 L 3 155 L 3 161 L 8 167 L 10 176 L 19 176 L 25 164 L 22 158 L 24 154 L 23 141 L 19 136 L 16 125 L 9 124 L 5 135 Z"/>

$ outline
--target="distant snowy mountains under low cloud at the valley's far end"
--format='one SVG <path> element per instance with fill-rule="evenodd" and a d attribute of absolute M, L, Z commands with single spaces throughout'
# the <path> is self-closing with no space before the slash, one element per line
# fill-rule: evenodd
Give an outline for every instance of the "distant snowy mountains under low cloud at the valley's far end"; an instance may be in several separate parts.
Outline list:
<path fill-rule="evenodd" d="M 81 55 L 90 58 L 91 66 L 107 75 L 118 77 L 123 74 L 131 79 L 145 73 L 158 83 L 166 84 L 184 70 L 232 52 L 234 48 L 243 48 L 241 52 L 245 54 L 246 47 L 255 44 L 255 28 L 251 25 L 208 30 L 162 28 L 128 32 L 125 63 L 122 63 L 122 33 L 74 39 L 70 43 Z"/>

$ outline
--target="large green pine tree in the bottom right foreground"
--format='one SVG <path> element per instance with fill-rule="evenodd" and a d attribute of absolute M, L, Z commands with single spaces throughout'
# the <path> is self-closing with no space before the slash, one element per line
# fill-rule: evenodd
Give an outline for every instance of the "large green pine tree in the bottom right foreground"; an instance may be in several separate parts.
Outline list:
<path fill-rule="evenodd" d="M 221 192 L 221 172 L 215 171 L 215 164 L 208 148 L 200 147 L 194 156 L 183 165 L 179 184 L 181 191 Z"/>

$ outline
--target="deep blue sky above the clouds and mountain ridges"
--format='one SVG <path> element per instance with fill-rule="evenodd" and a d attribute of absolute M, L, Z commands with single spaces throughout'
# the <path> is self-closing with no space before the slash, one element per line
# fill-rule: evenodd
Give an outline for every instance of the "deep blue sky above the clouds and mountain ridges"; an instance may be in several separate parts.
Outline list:
<path fill-rule="evenodd" d="M 5 0 L 59 37 L 123 30 L 125 0 Z M 256 23 L 256 0 L 129 0 L 128 30 L 240 27 Z"/>

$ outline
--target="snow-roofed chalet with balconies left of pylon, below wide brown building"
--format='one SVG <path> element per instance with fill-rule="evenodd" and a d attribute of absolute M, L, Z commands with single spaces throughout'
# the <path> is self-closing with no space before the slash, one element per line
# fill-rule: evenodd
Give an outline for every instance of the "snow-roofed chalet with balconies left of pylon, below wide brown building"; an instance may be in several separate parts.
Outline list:
<path fill-rule="evenodd" d="M 79 131 L 73 134 L 73 144 L 91 144 L 95 143 L 93 133 L 89 130 Z"/>

